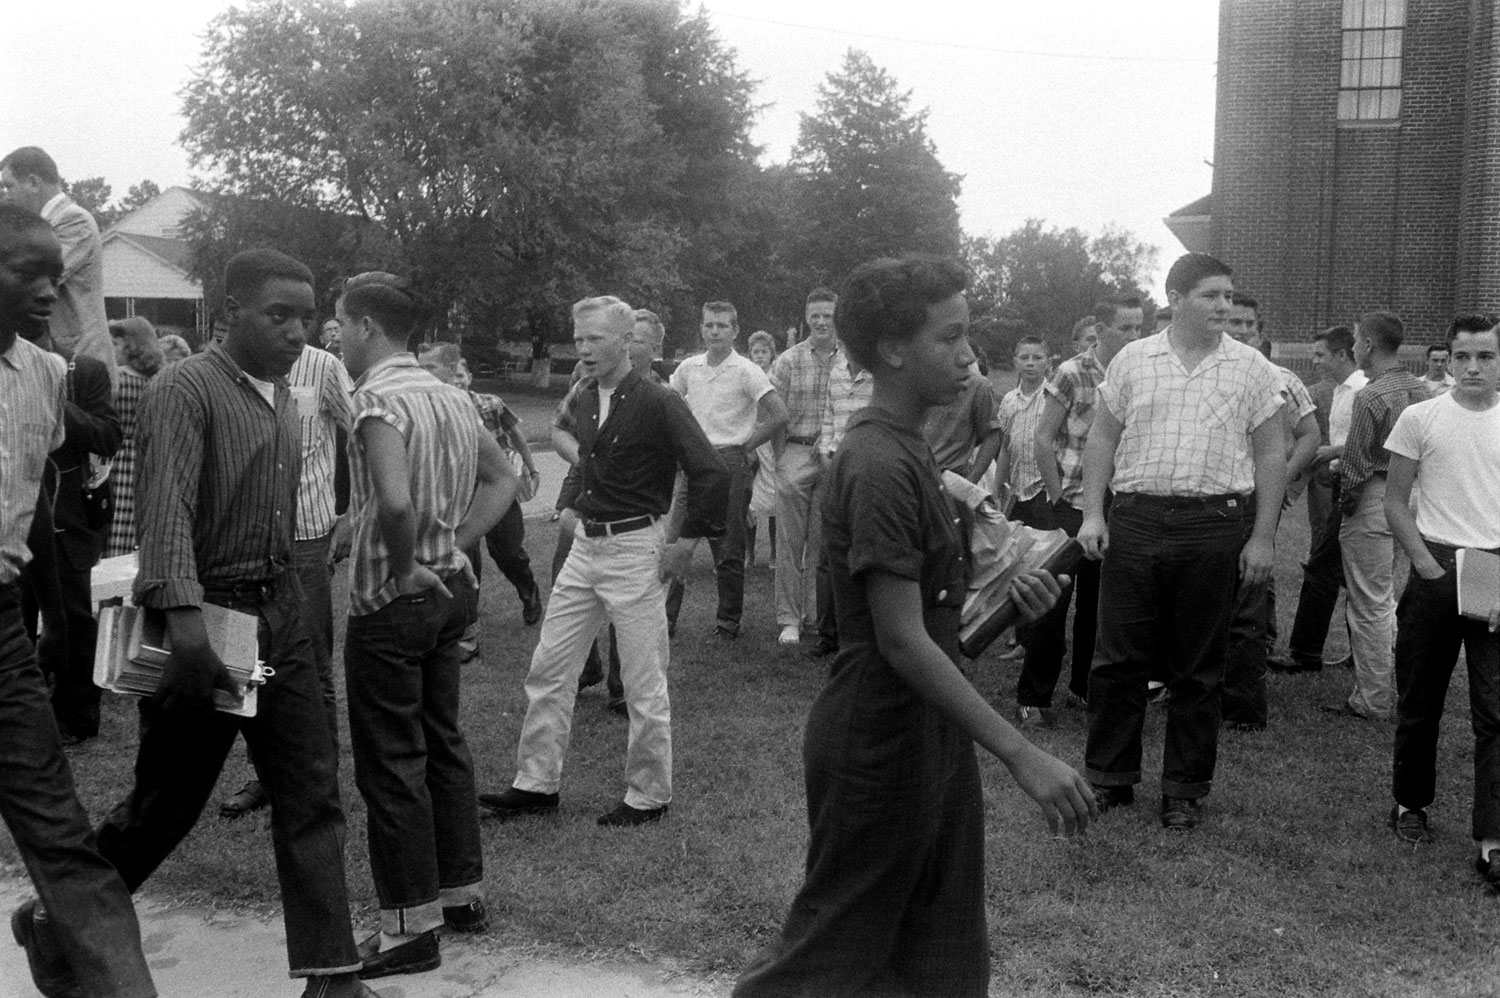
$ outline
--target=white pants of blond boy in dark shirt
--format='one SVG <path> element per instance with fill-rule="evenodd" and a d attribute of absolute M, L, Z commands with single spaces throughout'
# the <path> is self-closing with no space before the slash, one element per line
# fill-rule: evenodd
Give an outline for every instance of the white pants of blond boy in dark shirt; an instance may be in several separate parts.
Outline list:
<path fill-rule="evenodd" d="M 664 521 L 614 537 L 585 537 L 552 584 L 542 636 L 526 674 L 526 720 L 516 747 L 518 789 L 555 794 L 573 728 L 578 677 L 608 618 L 620 642 L 620 678 L 630 708 L 626 803 L 654 809 L 672 800 L 672 704 L 666 690 Z"/>

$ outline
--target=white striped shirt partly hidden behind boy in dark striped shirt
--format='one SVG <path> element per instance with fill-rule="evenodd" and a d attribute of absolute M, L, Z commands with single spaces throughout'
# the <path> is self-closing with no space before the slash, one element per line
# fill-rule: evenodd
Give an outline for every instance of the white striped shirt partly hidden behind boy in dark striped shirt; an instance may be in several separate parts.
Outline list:
<path fill-rule="evenodd" d="M 286 375 L 302 426 L 302 480 L 297 485 L 297 540 L 315 540 L 339 518 L 333 500 L 338 431 L 350 428 L 354 386 L 344 362 L 308 347 Z"/>

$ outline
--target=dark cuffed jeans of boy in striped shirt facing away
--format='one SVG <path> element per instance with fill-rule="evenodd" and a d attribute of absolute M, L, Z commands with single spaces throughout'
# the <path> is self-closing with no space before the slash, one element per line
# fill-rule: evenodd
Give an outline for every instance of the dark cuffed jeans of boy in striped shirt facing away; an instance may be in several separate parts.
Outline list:
<path fill-rule="evenodd" d="M 348 620 L 344 681 L 354 782 L 369 813 L 370 872 L 384 911 L 438 900 L 483 876 L 474 761 L 459 729 L 462 575 Z"/>

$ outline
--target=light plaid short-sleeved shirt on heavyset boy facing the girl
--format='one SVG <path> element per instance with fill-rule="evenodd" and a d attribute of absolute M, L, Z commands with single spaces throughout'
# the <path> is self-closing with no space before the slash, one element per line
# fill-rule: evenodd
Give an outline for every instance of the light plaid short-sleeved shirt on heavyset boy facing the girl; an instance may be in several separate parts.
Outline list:
<path fill-rule="evenodd" d="M 1281 408 L 1281 377 L 1258 350 L 1220 336 L 1186 371 L 1172 327 L 1126 344 L 1104 374 L 1100 402 L 1120 422 L 1110 489 L 1227 495 L 1256 488 L 1250 435 Z"/>

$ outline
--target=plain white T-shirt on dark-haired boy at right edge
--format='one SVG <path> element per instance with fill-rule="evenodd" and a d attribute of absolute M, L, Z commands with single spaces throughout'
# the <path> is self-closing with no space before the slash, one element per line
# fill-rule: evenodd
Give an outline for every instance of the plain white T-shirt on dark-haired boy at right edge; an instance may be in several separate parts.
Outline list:
<path fill-rule="evenodd" d="M 1455 548 L 1500 548 L 1500 405 L 1467 410 L 1452 393 L 1408 405 L 1386 450 L 1418 462 L 1416 528 Z"/>

